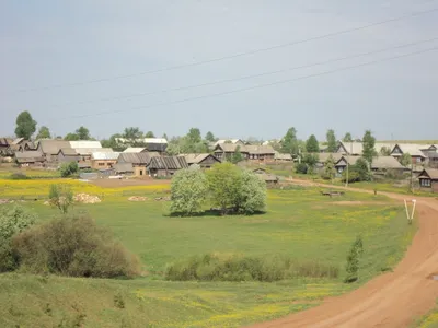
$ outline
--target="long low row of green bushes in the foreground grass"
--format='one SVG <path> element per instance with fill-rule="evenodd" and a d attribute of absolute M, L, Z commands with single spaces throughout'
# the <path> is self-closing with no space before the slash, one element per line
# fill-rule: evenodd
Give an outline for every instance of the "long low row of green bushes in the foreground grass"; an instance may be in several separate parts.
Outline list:
<path fill-rule="evenodd" d="M 205 255 L 169 265 L 165 279 L 171 281 L 264 281 L 296 277 L 337 278 L 339 270 L 316 261 L 298 262 L 287 257 Z"/>

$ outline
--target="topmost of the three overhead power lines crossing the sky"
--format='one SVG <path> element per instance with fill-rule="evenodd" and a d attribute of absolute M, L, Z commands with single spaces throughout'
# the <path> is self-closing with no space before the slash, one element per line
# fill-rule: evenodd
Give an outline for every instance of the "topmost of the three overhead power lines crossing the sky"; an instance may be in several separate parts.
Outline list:
<path fill-rule="evenodd" d="M 357 32 L 360 30 L 366 30 L 369 27 L 374 27 L 374 26 L 379 26 L 379 25 L 383 25 L 383 24 L 388 24 L 388 23 L 392 23 L 392 22 L 397 22 L 397 21 L 402 21 L 405 19 L 420 16 L 420 15 L 433 13 L 436 11 L 438 11 L 438 8 L 419 11 L 419 12 L 411 13 L 407 15 L 403 15 L 403 16 L 399 16 L 399 17 L 394 17 L 394 19 L 390 19 L 390 20 L 385 20 L 385 21 L 380 21 L 380 22 L 376 22 L 376 23 L 371 23 L 371 24 L 367 24 L 367 25 L 362 25 L 362 26 L 358 26 L 358 27 L 353 27 L 353 28 L 348 28 L 348 30 L 342 30 L 342 31 L 337 31 L 337 32 L 333 32 L 333 33 L 327 33 L 327 34 L 323 34 L 323 35 L 319 35 L 319 36 L 314 36 L 314 37 L 310 37 L 310 38 L 306 38 L 306 39 L 293 40 L 293 42 L 289 42 L 286 44 L 279 44 L 279 45 L 275 45 L 275 46 L 270 46 L 270 47 L 266 47 L 266 48 L 253 49 L 253 50 L 249 50 L 249 51 L 238 52 L 234 55 L 212 58 L 212 59 L 192 62 L 192 63 L 183 63 L 183 65 L 171 66 L 171 67 L 155 69 L 155 70 L 137 72 L 137 73 L 132 73 L 132 74 L 123 74 L 123 75 L 115 75 L 115 77 L 110 77 L 110 78 L 101 78 L 101 79 L 89 80 L 89 81 L 83 81 L 83 82 L 61 83 L 61 84 L 46 85 L 46 86 L 39 86 L 39 87 L 20 89 L 20 90 L 10 91 L 10 92 L 3 92 L 2 94 L 13 94 L 13 93 L 44 91 L 44 90 L 60 89 L 60 87 L 80 86 L 80 85 L 101 83 L 101 82 L 106 82 L 106 81 L 112 81 L 112 80 L 135 78 L 135 77 L 139 77 L 139 75 L 171 71 L 171 70 L 182 69 L 182 68 L 195 67 L 195 66 L 199 66 L 199 65 L 206 65 L 206 63 L 222 61 L 222 60 L 227 60 L 227 59 L 243 57 L 243 56 L 247 56 L 247 55 L 254 55 L 254 54 L 260 54 L 260 52 L 269 51 L 269 50 L 274 50 L 274 49 L 285 48 L 285 47 L 289 47 L 289 46 L 293 46 L 293 45 L 306 44 L 306 43 L 313 42 L 313 40 L 333 37 L 333 36 L 342 35 L 342 34 L 350 33 L 350 32 Z"/>

